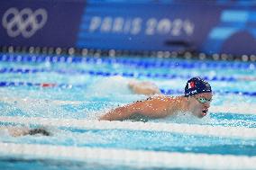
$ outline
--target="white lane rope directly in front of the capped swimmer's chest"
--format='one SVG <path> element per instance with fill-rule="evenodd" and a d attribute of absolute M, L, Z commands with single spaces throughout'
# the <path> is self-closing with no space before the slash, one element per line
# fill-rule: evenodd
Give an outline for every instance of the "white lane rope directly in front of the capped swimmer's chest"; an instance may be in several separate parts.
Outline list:
<path fill-rule="evenodd" d="M 256 139 L 256 128 L 224 127 L 185 123 L 140 122 L 140 121 L 87 121 L 77 119 L 56 119 L 40 117 L 1 116 L 0 121 L 14 124 L 28 124 L 86 130 L 149 130 L 188 135 L 204 135 L 224 138 Z"/>

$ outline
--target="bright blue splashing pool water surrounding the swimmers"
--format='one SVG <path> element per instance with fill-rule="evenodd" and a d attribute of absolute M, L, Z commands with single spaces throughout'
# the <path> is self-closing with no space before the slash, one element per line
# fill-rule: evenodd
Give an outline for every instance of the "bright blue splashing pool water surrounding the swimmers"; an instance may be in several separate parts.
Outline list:
<path fill-rule="evenodd" d="M 210 112 L 203 119 L 180 114 L 142 124 L 113 121 L 109 125 L 96 121 L 100 115 L 114 107 L 147 97 L 130 91 L 128 82 L 131 79 L 151 81 L 160 87 L 162 93 L 180 95 L 187 79 L 192 76 L 205 77 L 215 92 Z M 217 159 L 204 166 L 189 163 L 180 166 L 176 162 L 171 165 L 160 164 L 154 160 L 151 160 L 154 164 L 147 163 L 145 166 L 136 160 L 125 162 L 125 157 L 118 159 L 111 156 L 107 157 L 107 161 L 106 156 L 81 160 L 72 153 L 62 157 L 59 154 L 61 151 L 42 154 L 41 146 L 48 146 L 52 150 L 51 147 L 57 150 L 63 147 L 66 151 L 72 148 L 77 149 L 78 153 L 82 153 L 83 148 L 113 149 L 114 152 L 124 149 L 132 151 L 134 155 L 149 151 L 151 157 L 157 154 L 163 156 L 165 153 L 178 153 L 186 157 L 186 154 L 191 154 L 192 157 L 206 159 L 211 156 L 232 156 L 238 159 L 243 157 L 244 162 L 247 160 L 248 163 L 248 160 L 256 157 L 255 86 L 254 63 L 178 58 L 69 58 L 0 54 L 1 126 L 43 126 L 51 133 L 50 137 L 14 138 L 2 130 L 0 144 L 14 144 L 18 148 L 16 150 L 29 145 L 31 148 L 28 150 L 31 149 L 31 152 L 14 152 L 6 148 L 0 154 L 0 167 L 96 170 L 226 168 L 222 164 L 216 166 Z M 6 121 L 6 118 L 21 121 Z M 30 121 L 33 118 L 39 121 Z M 85 123 L 78 124 L 78 121 Z M 157 128 L 151 130 L 151 123 Z M 100 128 L 96 126 L 98 124 Z M 181 130 L 166 128 L 177 125 Z"/>

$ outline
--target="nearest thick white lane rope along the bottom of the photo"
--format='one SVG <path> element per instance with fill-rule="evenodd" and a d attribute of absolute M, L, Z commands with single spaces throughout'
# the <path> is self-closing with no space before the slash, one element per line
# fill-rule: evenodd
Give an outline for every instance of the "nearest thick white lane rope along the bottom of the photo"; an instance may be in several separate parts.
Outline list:
<path fill-rule="evenodd" d="M 115 166 L 136 166 L 136 168 L 254 169 L 256 167 L 256 157 L 114 148 L 0 143 L 0 152 L 2 156 L 9 157 L 76 160 Z"/>

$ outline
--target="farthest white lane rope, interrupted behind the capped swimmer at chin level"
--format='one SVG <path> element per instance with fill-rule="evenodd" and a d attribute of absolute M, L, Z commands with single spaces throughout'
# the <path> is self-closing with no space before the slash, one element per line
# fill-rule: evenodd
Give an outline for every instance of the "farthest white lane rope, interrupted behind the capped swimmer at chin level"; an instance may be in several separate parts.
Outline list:
<path fill-rule="evenodd" d="M 63 100 L 47 100 L 47 99 L 32 99 L 32 98 L 19 98 L 19 97 L 1 97 L 0 102 L 10 103 L 10 104 L 29 104 L 29 103 L 38 103 L 41 105 L 80 105 L 84 103 L 93 103 L 93 102 L 85 102 L 85 101 L 63 101 Z M 218 113 L 237 113 L 237 114 L 255 114 L 256 115 L 256 104 L 254 103 L 240 103 L 239 105 L 228 104 L 222 106 L 212 105 L 209 109 L 209 112 Z"/>

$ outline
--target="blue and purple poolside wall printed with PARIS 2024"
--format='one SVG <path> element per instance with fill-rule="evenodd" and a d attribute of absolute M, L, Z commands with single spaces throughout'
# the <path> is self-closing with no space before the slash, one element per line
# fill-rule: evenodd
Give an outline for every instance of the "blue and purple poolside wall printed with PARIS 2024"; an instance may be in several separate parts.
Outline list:
<path fill-rule="evenodd" d="M 256 54 L 256 2 L 0 1 L 0 45 Z"/>

